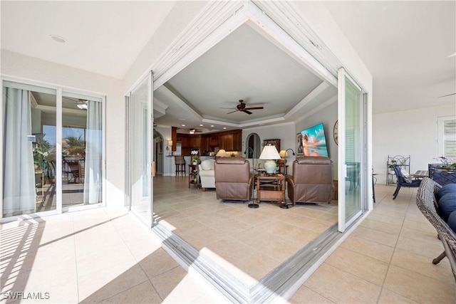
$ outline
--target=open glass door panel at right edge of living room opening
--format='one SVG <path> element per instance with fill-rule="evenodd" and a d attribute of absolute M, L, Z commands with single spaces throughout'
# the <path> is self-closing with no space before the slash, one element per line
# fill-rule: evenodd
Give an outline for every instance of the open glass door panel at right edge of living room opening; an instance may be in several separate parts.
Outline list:
<path fill-rule="evenodd" d="M 361 88 L 343 68 L 338 75 L 339 231 L 363 213 L 363 104 Z M 341 195 L 342 194 L 342 195 Z"/>

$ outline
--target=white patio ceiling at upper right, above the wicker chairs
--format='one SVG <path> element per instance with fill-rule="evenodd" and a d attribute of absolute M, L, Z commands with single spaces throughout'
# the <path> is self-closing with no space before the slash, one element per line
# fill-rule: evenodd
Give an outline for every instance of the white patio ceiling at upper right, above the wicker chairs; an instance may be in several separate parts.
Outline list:
<path fill-rule="evenodd" d="M 456 1 L 324 1 L 373 75 L 373 112 L 456 104 Z M 455 114 L 455 113 L 452 113 Z"/>

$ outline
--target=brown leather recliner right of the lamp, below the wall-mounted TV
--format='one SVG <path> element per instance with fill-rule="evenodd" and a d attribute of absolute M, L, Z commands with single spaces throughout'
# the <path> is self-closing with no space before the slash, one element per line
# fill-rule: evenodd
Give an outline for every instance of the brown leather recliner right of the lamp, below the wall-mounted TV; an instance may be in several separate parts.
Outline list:
<path fill-rule="evenodd" d="M 329 157 L 297 157 L 293 175 L 286 175 L 291 202 L 331 203 L 334 189 L 331 169 Z"/>

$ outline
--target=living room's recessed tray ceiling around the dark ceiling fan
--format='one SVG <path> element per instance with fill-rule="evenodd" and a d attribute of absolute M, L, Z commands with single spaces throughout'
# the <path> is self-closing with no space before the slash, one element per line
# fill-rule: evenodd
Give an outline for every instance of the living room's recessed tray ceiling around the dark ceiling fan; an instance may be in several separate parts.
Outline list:
<path fill-rule="evenodd" d="M 244 23 L 168 80 L 165 88 L 155 90 L 155 98 L 169 106 L 167 115 L 155 122 L 169 125 L 173 120 L 185 117 L 191 121 L 190 127 L 197 127 L 203 117 L 217 121 L 219 125 L 228 122 L 234 125 L 232 127 L 248 122 L 261 124 L 270 118 L 284 117 L 322 83 L 321 78 L 256 28 Z M 324 98 L 318 99 L 318 95 L 315 98 L 318 103 L 336 95 L 336 88 L 330 85 L 325 88 L 321 92 Z M 200 117 L 182 111 L 179 103 L 172 101 L 176 99 L 182 100 Z M 252 110 L 251 115 L 232 112 L 237 109 L 239 100 L 244 100 L 248 108 L 264 109 Z"/>

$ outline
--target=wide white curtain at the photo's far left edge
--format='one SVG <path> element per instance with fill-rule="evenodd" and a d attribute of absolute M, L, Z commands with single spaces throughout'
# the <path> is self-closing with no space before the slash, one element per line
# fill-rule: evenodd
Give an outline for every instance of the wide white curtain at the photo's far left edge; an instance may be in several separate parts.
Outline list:
<path fill-rule="evenodd" d="M 36 209 L 31 109 L 28 90 L 4 87 L 3 96 L 3 214 L 28 214 Z"/>

